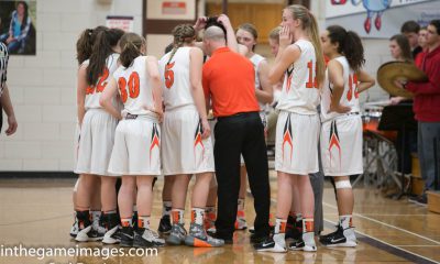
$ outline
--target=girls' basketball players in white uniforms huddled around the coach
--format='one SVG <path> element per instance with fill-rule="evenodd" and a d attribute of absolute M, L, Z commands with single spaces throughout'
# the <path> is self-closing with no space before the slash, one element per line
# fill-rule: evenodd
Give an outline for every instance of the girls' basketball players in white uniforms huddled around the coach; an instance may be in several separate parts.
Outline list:
<path fill-rule="evenodd" d="M 226 15 L 216 20 L 231 31 Z M 201 85 L 202 65 L 209 57 L 204 56 L 204 44 L 196 42 L 198 31 L 208 26 L 207 18 L 195 26 L 177 25 L 172 50 L 161 59 L 146 55 L 146 42 L 135 33 L 105 26 L 81 33 L 75 168 L 80 176 L 70 230 L 76 241 L 135 248 L 224 244 L 216 238 L 213 224 L 213 128 Z M 264 124 L 265 106 L 273 102 L 272 87 L 283 84 L 276 103 L 275 227 L 271 235 L 251 241 L 257 251 L 317 250 L 308 175 L 319 170 L 320 151 L 323 173 L 336 182 L 340 221 L 334 232 L 319 241 L 327 246 L 355 246 L 349 175 L 362 173 L 359 94 L 374 85 L 362 70 L 361 40 L 339 25 L 319 35 L 314 14 L 302 6 L 285 8 L 275 32 L 279 33 L 271 38 L 276 54 L 273 67 L 254 53 L 257 33 L 252 24 L 239 26 L 237 38 L 228 37 L 228 46 L 237 46 L 238 41 L 240 47 L 234 50 L 254 65 Z M 187 231 L 184 212 L 193 175 Z M 163 213 L 156 233 L 150 221 L 154 183 L 162 176 Z M 241 183 L 238 230 L 246 229 L 245 169 Z"/>

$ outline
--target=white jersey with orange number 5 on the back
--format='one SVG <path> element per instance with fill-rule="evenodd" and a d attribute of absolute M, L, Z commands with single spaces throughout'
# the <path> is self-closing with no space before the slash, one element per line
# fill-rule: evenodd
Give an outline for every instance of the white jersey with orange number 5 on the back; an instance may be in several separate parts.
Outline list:
<path fill-rule="evenodd" d="M 170 52 L 158 62 L 165 110 L 194 105 L 189 80 L 190 50 L 191 47 L 179 47 L 169 64 Z"/>

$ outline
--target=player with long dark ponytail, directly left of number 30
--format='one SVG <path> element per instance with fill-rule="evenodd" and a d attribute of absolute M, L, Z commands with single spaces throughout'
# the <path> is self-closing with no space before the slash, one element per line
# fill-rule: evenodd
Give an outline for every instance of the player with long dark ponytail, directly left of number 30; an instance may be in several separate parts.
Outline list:
<path fill-rule="evenodd" d="M 78 70 L 78 123 L 80 127 L 80 141 L 78 161 L 75 173 L 81 174 L 77 190 L 77 218 L 79 231 L 75 240 L 85 242 L 95 240 L 89 233 L 92 229 L 89 216 L 91 194 L 96 193 L 99 176 L 108 175 L 111 147 L 118 120 L 107 113 L 99 105 L 99 98 L 106 89 L 111 74 L 118 67 L 118 42 L 123 31 L 105 29 L 96 34 L 90 58 L 85 61 Z M 113 98 L 113 103 L 116 98 Z M 116 178 L 102 177 L 102 211 L 108 212 L 109 222 L 113 234 L 118 229 L 118 215 L 116 201 Z M 99 193 L 99 191 L 98 191 Z M 110 213 L 110 215 L 109 215 Z M 99 219 L 99 218 L 98 218 Z M 90 235 L 89 235 L 90 234 Z M 117 243 L 118 238 L 105 237 L 105 243 Z M 99 238 L 102 234 L 99 233 Z"/>

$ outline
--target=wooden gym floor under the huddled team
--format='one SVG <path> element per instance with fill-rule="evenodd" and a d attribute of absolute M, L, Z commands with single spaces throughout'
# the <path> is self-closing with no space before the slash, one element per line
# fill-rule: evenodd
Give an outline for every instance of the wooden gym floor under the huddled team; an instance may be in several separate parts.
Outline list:
<path fill-rule="evenodd" d="M 276 198 L 276 177 L 271 177 L 273 204 Z M 402 200 L 382 198 L 373 189 L 356 188 L 354 224 L 359 245 L 355 249 L 326 249 L 318 242 L 316 253 L 257 253 L 249 242 L 249 232 L 235 232 L 234 244 L 219 249 L 166 246 L 154 256 L 4 256 L 4 249 L 75 248 L 68 231 L 73 223 L 72 188 L 74 179 L 0 179 L 0 263 L 438 263 L 440 262 L 440 215 L 428 212 Z M 152 226 L 157 228 L 162 212 L 158 180 L 154 190 Z M 248 223 L 252 226 L 253 199 L 246 198 Z M 187 207 L 188 208 L 188 207 Z M 324 189 L 324 231 L 333 229 L 338 211 L 333 190 Z M 272 208 L 274 211 L 274 206 Z M 189 222 L 187 213 L 187 221 Z M 79 246 L 99 248 L 100 243 Z M 110 248 L 111 249 L 111 248 Z M 114 248 L 118 249 L 118 248 Z M 23 254 L 22 254 L 23 255 Z"/>

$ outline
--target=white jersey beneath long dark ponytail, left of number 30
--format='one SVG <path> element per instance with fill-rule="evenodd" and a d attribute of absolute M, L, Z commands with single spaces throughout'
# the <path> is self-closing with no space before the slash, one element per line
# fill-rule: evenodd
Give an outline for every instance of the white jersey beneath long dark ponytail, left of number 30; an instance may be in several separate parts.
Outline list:
<path fill-rule="evenodd" d="M 114 70 L 118 68 L 118 53 L 110 54 L 106 59 L 106 69 L 99 76 L 98 82 L 95 86 L 87 87 L 85 100 L 86 110 L 91 108 L 101 108 L 99 105 L 99 98 L 101 97 L 102 91 L 106 89 L 107 84 L 110 81 Z M 87 59 L 82 64 L 89 65 L 89 59 Z M 116 106 L 114 99 L 113 105 Z"/>

